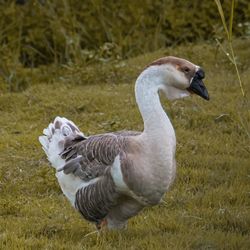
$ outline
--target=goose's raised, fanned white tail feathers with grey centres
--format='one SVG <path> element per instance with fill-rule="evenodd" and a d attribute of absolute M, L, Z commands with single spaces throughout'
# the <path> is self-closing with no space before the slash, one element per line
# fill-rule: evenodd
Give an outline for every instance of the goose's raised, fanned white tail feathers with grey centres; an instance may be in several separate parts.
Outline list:
<path fill-rule="evenodd" d="M 65 160 L 62 159 L 60 153 L 64 150 L 66 138 L 72 135 L 85 137 L 72 121 L 59 116 L 43 130 L 43 134 L 39 136 L 39 141 L 48 160 L 56 169 L 65 164 Z"/>

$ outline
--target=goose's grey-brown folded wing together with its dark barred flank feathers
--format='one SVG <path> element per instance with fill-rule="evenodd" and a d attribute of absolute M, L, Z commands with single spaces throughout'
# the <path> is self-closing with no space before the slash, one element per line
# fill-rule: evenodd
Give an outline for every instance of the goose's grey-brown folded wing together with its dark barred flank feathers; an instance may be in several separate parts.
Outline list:
<path fill-rule="evenodd" d="M 117 132 L 87 138 L 67 138 L 61 156 L 66 164 L 59 170 L 91 183 L 76 193 L 75 207 L 97 226 L 117 206 L 123 195 L 118 192 L 111 166 L 118 154 L 126 155 L 129 138 L 138 132 Z M 123 157 L 123 161 L 126 159 Z"/>

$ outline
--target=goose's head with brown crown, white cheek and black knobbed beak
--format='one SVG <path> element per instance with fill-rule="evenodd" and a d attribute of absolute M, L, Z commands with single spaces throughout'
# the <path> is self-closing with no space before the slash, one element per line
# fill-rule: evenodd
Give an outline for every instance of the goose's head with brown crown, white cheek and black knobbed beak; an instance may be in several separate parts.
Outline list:
<path fill-rule="evenodd" d="M 203 83 L 203 69 L 185 59 L 167 56 L 152 62 L 146 71 L 156 79 L 158 89 L 169 100 L 197 94 L 209 100 L 208 91 Z M 147 74 L 148 75 L 148 74 Z"/>

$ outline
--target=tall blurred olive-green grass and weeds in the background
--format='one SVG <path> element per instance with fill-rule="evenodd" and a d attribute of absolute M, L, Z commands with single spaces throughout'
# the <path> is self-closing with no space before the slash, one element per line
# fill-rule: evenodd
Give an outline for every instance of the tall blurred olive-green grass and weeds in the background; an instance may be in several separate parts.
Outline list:
<path fill-rule="evenodd" d="M 222 33 L 214 1 L 15 2 L 0 5 L 1 61 L 19 60 L 26 67 L 130 58 Z M 222 1 L 226 19 L 228 2 Z M 249 0 L 237 0 L 234 9 L 234 34 L 249 36 Z"/>

